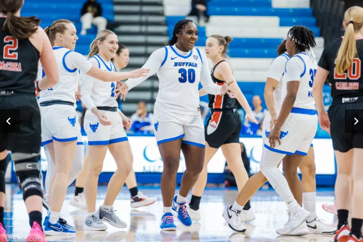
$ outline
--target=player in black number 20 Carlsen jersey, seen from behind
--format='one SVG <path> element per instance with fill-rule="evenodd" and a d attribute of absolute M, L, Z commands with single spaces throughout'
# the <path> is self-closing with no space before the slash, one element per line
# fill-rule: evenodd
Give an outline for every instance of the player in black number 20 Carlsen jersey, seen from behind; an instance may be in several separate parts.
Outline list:
<path fill-rule="evenodd" d="M 320 126 L 332 136 L 338 165 L 335 194 L 339 231 L 335 241 L 363 242 L 363 132 L 358 132 L 354 124 L 355 117 L 363 121 L 359 118 L 363 114 L 363 8 L 350 7 L 345 12 L 343 25 L 346 29 L 344 37 L 329 43 L 320 58 L 313 93 Z M 328 76 L 333 101 L 327 113 L 323 105 L 322 89 Z M 347 110 L 351 110 L 351 114 Z M 351 200 L 350 230 L 348 211 Z"/>

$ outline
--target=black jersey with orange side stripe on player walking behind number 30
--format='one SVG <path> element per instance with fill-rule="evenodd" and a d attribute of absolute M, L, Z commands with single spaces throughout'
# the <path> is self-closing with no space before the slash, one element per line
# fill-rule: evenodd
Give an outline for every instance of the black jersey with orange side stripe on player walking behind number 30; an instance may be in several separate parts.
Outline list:
<path fill-rule="evenodd" d="M 218 62 L 211 71 L 211 76 L 212 76 L 213 82 L 220 86 L 225 84 L 225 82 L 217 79 L 214 76 L 214 70 L 222 61 L 226 61 L 226 60 L 221 60 L 220 62 Z M 228 94 L 225 94 L 223 96 L 209 94 L 208 97 L 209 97 L 209 108 L 210 109 L 236 109 L 237 108 L 236 98 L 230 97 Z"/>

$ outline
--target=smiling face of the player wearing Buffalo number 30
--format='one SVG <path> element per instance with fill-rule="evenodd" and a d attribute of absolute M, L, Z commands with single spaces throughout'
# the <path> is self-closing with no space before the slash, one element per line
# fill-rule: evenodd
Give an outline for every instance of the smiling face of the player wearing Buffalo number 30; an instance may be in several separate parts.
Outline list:
<path fill-rule="evenodd" d="M 189 22 L 182 29 L 182 33 L 176 34 L 178 40 L 176 42 L 181 51 L 188 52 L 194 48 L 198 40 L 198 28 L 194 22 Z"/>

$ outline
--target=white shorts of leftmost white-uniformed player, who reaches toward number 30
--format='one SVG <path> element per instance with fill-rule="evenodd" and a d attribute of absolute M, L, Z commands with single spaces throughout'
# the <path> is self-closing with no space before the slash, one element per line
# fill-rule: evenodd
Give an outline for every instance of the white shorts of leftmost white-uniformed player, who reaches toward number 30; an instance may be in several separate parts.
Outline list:
<path fill-rule="evenodd" d="M 42 145 L 53 142 L 74 141 L 80 138 L 82 142 L 81 126 L 74 106 L 50 105 L 40 107 L 42 126 Z"/>

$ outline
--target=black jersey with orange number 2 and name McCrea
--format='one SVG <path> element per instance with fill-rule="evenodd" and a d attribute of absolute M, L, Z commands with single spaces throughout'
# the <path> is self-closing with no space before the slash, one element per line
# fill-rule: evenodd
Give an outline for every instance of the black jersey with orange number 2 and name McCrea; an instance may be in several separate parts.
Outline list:
<path fill-rule="evenodd" d="M 2 28 L 5 18 L 0 17 Z M 35 95 L 40 53 L 29 39 L 16 39 L 0 31 L 0 95 Z"/>

